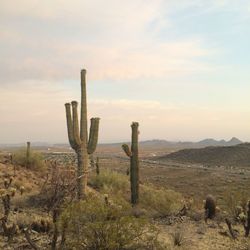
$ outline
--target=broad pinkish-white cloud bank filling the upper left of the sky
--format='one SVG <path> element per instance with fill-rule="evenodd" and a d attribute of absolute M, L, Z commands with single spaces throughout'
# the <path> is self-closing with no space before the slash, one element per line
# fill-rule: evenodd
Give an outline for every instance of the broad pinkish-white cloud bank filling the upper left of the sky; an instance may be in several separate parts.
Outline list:
<path fill-rule="evenodd" d="M 168 2 L 3 1 L 0 81 L 76 79 L 81 67 L 101 80 L 214 70 L 199 60 L 214 53 L 202 40 L 159 39 Z"/>

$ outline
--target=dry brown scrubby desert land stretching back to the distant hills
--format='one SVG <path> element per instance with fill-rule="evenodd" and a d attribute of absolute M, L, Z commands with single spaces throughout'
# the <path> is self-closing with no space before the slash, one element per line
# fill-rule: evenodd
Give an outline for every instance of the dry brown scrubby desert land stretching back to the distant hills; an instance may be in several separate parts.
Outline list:
<path fill-rule="evenodd" d="M 245 237 L 244 222 L 241 221 L 250 192 L 249 144 L 196 145 L 199 148 L 183 145 L 189 146 L 187 149 L 181 146 L 169 146 L 159 140 L 139 143 L 141 197 L 135 207 L 127 209 L 138 220 L 150 221 L 157 243 L 156 238 L 150 238 L 146 245 L 137 245 L 135 249 L 249 249 L 249 239 Z M 7 238 L 3 231 L 2 249 L 32 249 L 29 238 L 39 245 L 39 248 L 35 246 L 37 249 L 49 249 L 55 230 L 53 206 L 57 203 L 60 207 L 66 206 L 60 196 L 70 203 L 74 199 L 70 193 L 72 190 L 64 190 L 65 187 L 70 189 L 77 168 L 77 157 L 70 147 L 62 144 L 51 145 L 50 148 L 34 147 L 33 150 L 34 157 L 41 157 L 36 159 L 41 166 L 29 169 L 18 162 L 21 159 L 19 154 L 26 152 L 24 149 L 1 149 L 1 190 L 5 190 L 5 182 L 12 180 L 10 187 L 6 188 L 9 192 L 15 191 L 10 196 L 8 223 L 10 228 L 16 227 L 13 234 L 9 232 L 11 235 L 6 235 Z M 229 163 L 231 156 L 234 160 Z M 110 199 L 108 202 L 112 206 L 114 202 L 120 204 L 121 198 L 123 202 L 129 202 L 129 169 L 130 159 L 123 152 L 121 143 L 98 145 L 89 161 L 89 196 L 102 197 L 104 204 L 106 199 Z M 206 220 L 204 206 L 208 195 L 216 201 L 216 212 L 215 217 Z M 92 216 L 95 216 L 99 211 L 95 207 L 92 209 Z M 3 213 L 5 211 L 3 208 Z M 61 225 L 58 227 L 57 241 L 61 244 Z M 28 237 L 24 230 L 29 230 Z M 71 249 L 66 243 L 64 247 Z"/>

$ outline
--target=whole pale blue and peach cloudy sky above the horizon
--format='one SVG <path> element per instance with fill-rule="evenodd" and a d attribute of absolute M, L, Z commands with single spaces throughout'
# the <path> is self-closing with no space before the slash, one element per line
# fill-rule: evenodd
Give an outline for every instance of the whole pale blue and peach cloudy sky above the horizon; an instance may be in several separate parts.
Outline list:
<path fill-rule="evenodd" d="M 248 0 L 1 0 L 0 144 L 64 143 L 80 100 L 99 142 L 250 141 Z"/>

